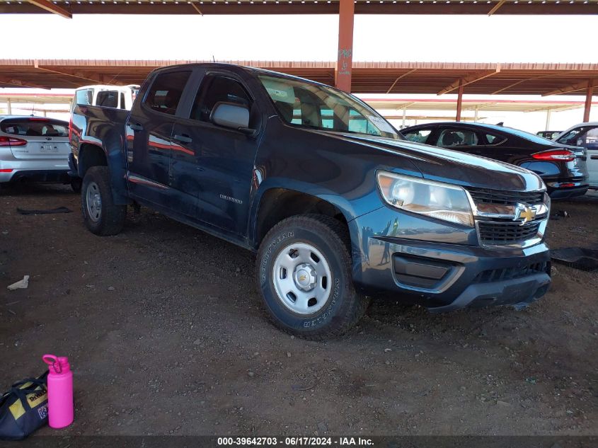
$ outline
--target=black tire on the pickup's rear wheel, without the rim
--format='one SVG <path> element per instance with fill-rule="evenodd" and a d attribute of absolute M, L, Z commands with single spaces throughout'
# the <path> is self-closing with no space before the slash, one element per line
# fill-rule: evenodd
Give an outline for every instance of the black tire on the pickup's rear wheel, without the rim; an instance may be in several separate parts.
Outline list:
<path fill-rule="evenodd" d="M 100 212 L 94 217 L 90 216 L 87 203 L 89 188 L 93 188 L 100 196 Z M 125 226 L 127 206 L 114 204 L 108 166 L 92 166 L 85 173 L 81 188 L 81 213 L 87 228 L 96 235 L 116 235 Z"/>

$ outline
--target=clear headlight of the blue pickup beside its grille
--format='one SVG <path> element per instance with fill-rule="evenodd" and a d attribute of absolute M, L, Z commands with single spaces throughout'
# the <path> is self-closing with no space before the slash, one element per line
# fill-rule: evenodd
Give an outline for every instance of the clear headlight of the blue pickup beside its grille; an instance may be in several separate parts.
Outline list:
<path fill-rule="evenodd" d="M 378 185 L 393 207 L 473 227 L 471 206 L 461 187 L 388 171 L 378 172 Z"/>

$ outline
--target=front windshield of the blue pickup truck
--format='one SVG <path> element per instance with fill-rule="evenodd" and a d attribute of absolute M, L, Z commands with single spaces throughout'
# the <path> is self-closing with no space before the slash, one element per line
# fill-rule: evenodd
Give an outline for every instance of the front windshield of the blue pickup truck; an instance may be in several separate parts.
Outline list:
<path fill-rule="evenodd" d="M 258 76 L 282 120 L 299 127 L 402 139 L 372 108 L 321 84 Z"/>

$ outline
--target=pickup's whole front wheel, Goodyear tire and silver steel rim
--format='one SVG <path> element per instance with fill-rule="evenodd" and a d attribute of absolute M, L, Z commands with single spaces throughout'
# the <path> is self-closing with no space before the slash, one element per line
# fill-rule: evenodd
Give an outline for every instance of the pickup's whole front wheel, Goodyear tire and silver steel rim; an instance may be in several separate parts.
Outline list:
<path fill-rule="evenodd" d="M 348 331 L 369 300 L 352 282 L 350 239 L 343 223 L 307 214 L 284 219 L 262 241 L 258 287 L 275 325 L 321 340 Z"/>

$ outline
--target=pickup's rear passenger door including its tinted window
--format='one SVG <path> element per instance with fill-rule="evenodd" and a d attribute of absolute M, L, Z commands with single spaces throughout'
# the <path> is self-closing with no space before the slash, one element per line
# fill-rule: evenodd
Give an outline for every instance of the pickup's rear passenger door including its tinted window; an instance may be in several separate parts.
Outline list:
<path fill-rule="evenodd" d="M 192 69 L 159 71 L 127 122 L 127 169 L 132 195 L 167 207 L 171 198 L 171 134 L 176 111 L 184 107 Z"/>

